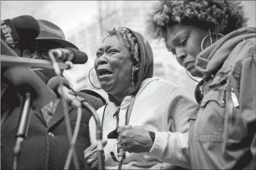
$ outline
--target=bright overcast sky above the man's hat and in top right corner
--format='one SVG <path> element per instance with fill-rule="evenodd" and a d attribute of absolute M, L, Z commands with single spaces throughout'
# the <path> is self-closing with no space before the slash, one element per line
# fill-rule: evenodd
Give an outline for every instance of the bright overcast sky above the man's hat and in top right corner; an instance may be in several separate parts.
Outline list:
<path fill-rule="evenodd" d="M 255 27 L 255 1 L 243 1 L 249 17 L 248 26 Z M 79 26 L 90 25 L 97 14 L 97 1 L 1 1 L 1 20 L 34 12 L 36 19 L 57 24 L 65 33 Z"/>

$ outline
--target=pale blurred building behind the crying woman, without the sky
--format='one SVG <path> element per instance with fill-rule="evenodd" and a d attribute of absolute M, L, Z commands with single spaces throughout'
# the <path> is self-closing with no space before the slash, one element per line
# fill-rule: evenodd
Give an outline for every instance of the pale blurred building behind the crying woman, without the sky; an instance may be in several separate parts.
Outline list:
<path fill-rule="evenodd" d="M 113 27 L 129 27 L 145 35 L 145 15 L 149 7 L 150 2 L 146 1 L 98 1 L 99 12 L 93 17 L 91 25 L 81 24 L 67 34 L 68 40 L 88 54 L 91 67 L 93 67 L 96 50 L 100 47 L 106 30 L 113 29 Z M 185 69 L 178 65 L 175 57 L 165 49 L 163 42 L 151 40 L 150 45 L 154 54 L 154 76 L 177 83 L 193 96 L 196 83 L 187 76 Z M 94 85 L 98 85 L 96 78 L 91 79 Z M 80 83 L 83 85 L 79 85 L 79 88 L 93 88 L 86 79 Z"/>

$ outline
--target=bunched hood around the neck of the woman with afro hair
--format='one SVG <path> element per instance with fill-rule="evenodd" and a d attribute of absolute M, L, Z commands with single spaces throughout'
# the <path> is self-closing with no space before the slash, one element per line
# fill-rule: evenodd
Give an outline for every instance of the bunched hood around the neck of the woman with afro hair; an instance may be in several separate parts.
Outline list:
<path fill-rule="evenodd" d="M 242 42 L 242 40 L 255 37 L 255 33 L 255 28 L 237 29 L 200 52 L 197 55 L 195 68 L 198 72 L 202 73 L 202 78 L 206 78 L 213 72 L 216 72 L 235 46 Z"/>

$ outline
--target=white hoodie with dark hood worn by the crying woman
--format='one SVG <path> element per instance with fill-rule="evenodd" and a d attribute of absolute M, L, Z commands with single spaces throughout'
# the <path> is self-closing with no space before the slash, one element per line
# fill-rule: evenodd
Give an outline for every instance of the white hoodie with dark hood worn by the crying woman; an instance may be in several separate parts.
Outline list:
<path fill-rule="evenodd" d="M 175 165 L 190 168 L 188 116 L 198 105 L 175 83 L 152 78 L 153 53 L 150 44 L 138 32 L 131 32 L 138 40 L 141 67 L 134 95 L 126 96 L 119 105 L 119 126 L 125 125 L 126 111 L 132 105 L 128 125 L 155 132 L 155 142 L 149 153 L 126 152 L 121 169 L 173 169 Z M 107 139 L 108 133 L 116 129 L 116 116 L 113 115 L 119 106 L 111 102 L 110 97 L 110 102 L 97 110 L 101 123 L 103 121 L 103 139 Z M 95 143 L 95 120 L 91 119 L 89 125 L 91 142 Z M 118 163 L 110 155 L 111 151 L 116 154 L 115 143 L 116 139 L 108 139 L 104 148 L 106 169 L 118 169 Z"/>

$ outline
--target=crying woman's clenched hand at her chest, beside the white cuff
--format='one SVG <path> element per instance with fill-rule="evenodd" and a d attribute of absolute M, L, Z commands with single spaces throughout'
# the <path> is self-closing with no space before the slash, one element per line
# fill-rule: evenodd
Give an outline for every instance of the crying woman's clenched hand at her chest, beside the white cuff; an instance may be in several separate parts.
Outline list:
<path fill-rule="evenodd" d="M 148 153 L 153 146 L 150 133 L 140 126 L 121 126 L 117 133 L 120 146 L 129 153 Z"/>

